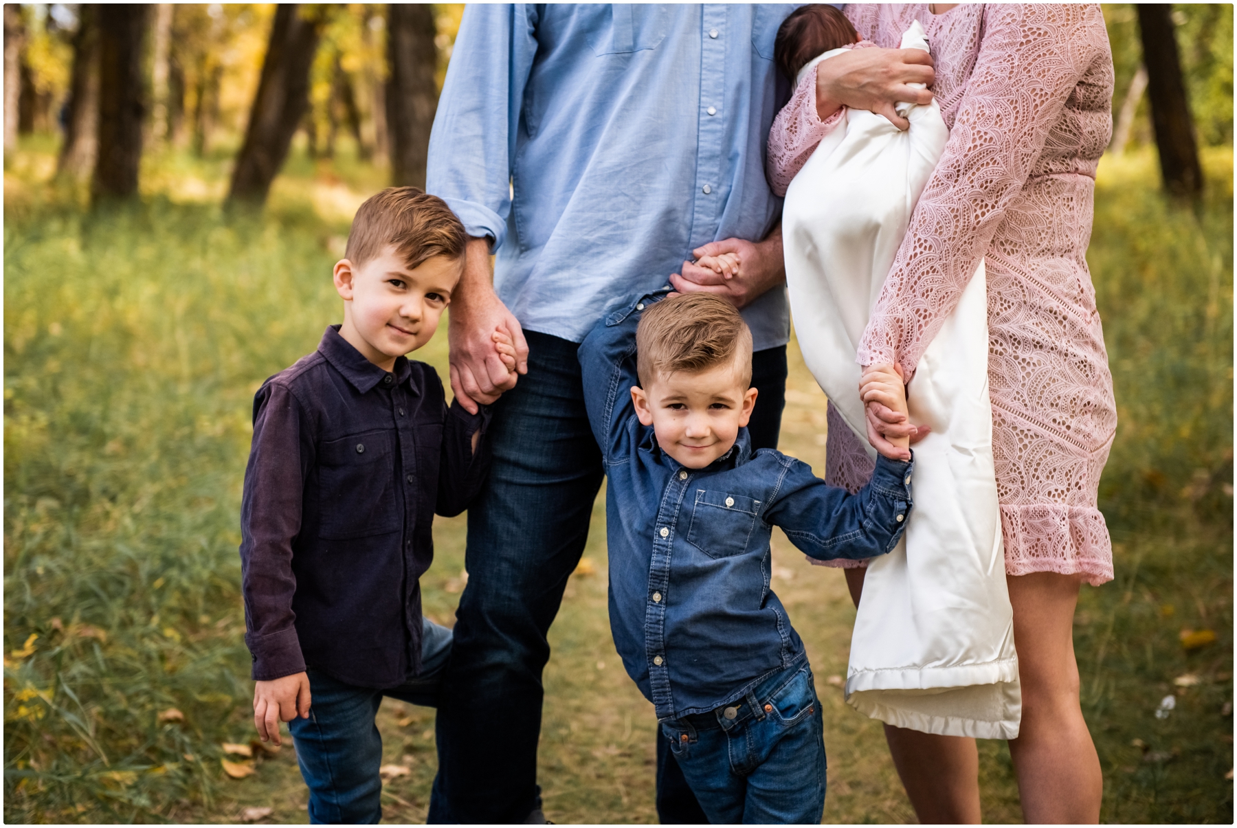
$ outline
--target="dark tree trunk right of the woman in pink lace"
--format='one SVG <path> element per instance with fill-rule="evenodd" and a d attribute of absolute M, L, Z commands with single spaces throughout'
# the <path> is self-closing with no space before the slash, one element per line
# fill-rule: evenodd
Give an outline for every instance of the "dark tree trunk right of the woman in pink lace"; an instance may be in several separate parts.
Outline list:
<path fill-rule="evenodd" d="M 1175 196 L 1197 196 L 1202 192 L 1202 168 L 1176 51 L 1173 5 L 1138 4 L 1136 7 L 1164 187 Z"/>

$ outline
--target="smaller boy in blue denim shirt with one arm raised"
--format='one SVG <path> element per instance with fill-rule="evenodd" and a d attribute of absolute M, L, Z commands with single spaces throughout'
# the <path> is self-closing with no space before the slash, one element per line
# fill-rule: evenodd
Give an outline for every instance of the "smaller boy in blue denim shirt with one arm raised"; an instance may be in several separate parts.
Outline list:
<path fill-rule="evenodd" d="M 819 823 L 820 705 L 769 589 L 769 533 L 815 558 L 889 552 L 912 462 L 880 457 L 851 495 L 792 457 L 753 454 L 747 326 L 717 297 L 664 296 L 610 314 L 579 350 L 606 464 L 615 645 L 710 822 Z M 866 399 L 905 412 L 897 374 L 863 379 Z"/>

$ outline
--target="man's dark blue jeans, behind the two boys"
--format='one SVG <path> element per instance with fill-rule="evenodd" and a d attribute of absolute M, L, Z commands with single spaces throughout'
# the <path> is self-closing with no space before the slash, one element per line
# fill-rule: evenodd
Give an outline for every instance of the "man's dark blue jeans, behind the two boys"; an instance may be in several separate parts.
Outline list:
<path fill-rule="evenodd" d="M 546 635 L 584 551 L 604 474 L 584 408 L 576 343 L 536 332 L 526 337 L 528 374 L 495 403 L 490 480 L 468 512 L 469 582 L 438 708 L 430 823 L 521 823 L 541 807 Z M 760 390 L 747 427 L 753 448 L 777 444 L 785 370 L 785 347 L 752 356 L 752 385 Z M 677 766 L 659 769 L 659 787 L 667 782 L 673 821 L 694 812 L 703 822 Z"/>

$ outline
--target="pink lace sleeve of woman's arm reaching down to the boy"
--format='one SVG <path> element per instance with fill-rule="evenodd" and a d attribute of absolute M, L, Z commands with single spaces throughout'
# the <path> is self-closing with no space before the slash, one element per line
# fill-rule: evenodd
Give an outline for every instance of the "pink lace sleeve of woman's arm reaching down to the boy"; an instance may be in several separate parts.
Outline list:
<path fill-rule="evenodd" d="M 1080 5 L 990 5 L 970 84 L 881 288 L 856 361 L 914 371 L 1095 56 Z"/>

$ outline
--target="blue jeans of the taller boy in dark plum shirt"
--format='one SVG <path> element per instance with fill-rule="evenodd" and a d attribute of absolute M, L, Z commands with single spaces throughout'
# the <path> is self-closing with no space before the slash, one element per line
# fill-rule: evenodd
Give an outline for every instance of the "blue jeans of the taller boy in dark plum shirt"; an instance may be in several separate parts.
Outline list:
<path fill-rule="evenodd" d="M 355 687 L 309 673 L 309 718 L 288 723 L 301 776 L 309 787 L 309 822 L 375 824 L 382 818 L 382 736 L 374 717 L 382 697 L 438 707 L 443 670 L 452 655 L 452 631 L 422 619 L 421 675 L 388 689 Z"/>

